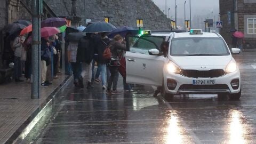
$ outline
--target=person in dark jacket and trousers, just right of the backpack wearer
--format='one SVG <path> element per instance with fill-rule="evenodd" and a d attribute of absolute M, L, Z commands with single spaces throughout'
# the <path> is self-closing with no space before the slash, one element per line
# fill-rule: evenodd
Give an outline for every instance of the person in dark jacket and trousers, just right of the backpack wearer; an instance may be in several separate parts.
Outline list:
<path fill-rule="evenodd" d="M 111 57 L 114 59 L 119 60 L 119 56 L 122 55 L 122 50 L 126 50 L 126 47 L 122 42 L 124 41 L 124 38 L 121 35 L 116 35 L 114 37 L 114 40 L 110 42 L 110 51 L 111 51 Z M 116 61 L 113 61 L 116 62 Z M 113 63 L 114 64 L 114 63 Z M 107 93 L 111 94 L 121 94 L 121 92 L 118 92 L 116 90 L 117 87 L 117 81 L 119 76 L 118 65 L 113 65 L 111 62 L 109 64 L 109 71 L 110 71 L 110 77 L 108 80 L 108 89 Z M 111 87 L 113 88 L 113 91 L 111 91 Z"/>

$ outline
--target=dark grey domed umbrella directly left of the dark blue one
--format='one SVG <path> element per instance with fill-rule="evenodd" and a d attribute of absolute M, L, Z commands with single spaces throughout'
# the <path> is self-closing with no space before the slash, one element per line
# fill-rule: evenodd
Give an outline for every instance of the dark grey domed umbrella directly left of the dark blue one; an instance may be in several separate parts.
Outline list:
<path fill-rule="evenodd" d="M 116 27 L 111 23 L 107 22 L 93 22 L 89 26 L 87 26 L 83 32 L 85 33 L 103 33 L 114 30 Z"/>

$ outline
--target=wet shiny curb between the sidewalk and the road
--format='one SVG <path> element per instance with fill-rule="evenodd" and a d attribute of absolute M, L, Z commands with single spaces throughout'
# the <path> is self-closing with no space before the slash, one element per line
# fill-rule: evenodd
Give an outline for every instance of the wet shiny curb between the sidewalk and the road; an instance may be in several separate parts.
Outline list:
<path fill-rule="evenodd" d="M 59 84 L 59 86 L 46 98 L 44 102 L 41 103 L 41 105 L 38 106 L 33 114 L 31 114 L 26 119 L 26 121 L 18 128 L 18 130 L 12 134 L 12 136 L 5 143 L 21 143 L 27 134 L 31 131 L 31 129 L 33 129 L 33 127 L 37 124 L 39 119 L 41 119 L 42 116 L 46 113 L 47 109 L 49 109 L 51 106 L 50 104 L 52 103 L 52 100 L 55 98 L 55 96 L 61 93 L 62 89 L 65 89 L 65 87 L 71 81 L 70 79 L 71 76 L 66 77 L 65 80 Z"/>

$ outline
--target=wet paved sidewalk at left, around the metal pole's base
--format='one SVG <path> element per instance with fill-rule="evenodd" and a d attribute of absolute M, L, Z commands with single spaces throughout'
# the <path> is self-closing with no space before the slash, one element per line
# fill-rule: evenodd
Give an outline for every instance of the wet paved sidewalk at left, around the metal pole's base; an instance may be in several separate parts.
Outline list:
<path fill-rule="evenodd" d="M 42 87 L 41 99 L 30 99 L 31 84 L 10 82 L 0 85 L 0 143 L 12 143 L 34 119 L 69 76 L 60 75 L 53 84 Z M 30 122 L 29 122 L 30 121 Z M 15 134 L 14 134 L 15 133 Z"/>

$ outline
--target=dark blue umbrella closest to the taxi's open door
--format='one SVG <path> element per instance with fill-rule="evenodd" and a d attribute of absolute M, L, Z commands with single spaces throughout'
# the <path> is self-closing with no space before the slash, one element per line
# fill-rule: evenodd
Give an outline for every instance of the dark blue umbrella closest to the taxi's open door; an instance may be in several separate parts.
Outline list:
<path fill-rule="evenodd" d="M 131 27 L 120 27 L 120 28 L 117 28 L 117 29 L 114 29 L 113 31 L 111 31 L 109 34 L 108 34 L 108 37 L 109 38 L 114 38 L 115 35 L 121 35 L 122 37 L 125 37 L 126 34 L 131 34 L 131 35 L 136 35 L 139 33 L 139 30 L 138 29 L 134 29 L 134 28 L 131 28 Z"/>

